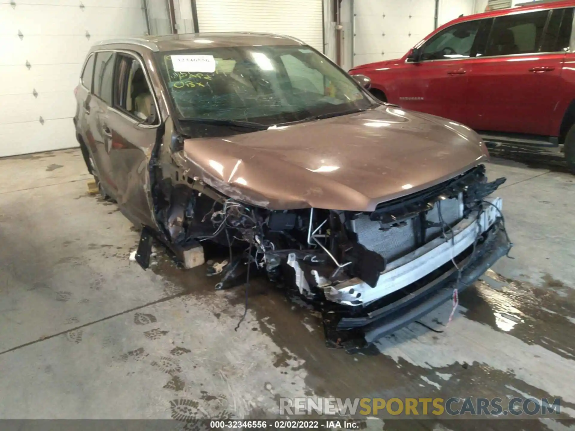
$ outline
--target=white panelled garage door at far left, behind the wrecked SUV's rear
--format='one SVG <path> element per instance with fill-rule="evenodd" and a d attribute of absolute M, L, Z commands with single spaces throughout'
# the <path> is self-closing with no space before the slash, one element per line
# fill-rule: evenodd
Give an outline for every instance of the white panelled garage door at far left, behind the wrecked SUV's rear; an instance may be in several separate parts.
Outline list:
<path fill-rule="evenodd" d="M 74 87 L 88 49 L 146 31 L 141 0 L 0 4 L 0 156 L 76 147 Z"/>

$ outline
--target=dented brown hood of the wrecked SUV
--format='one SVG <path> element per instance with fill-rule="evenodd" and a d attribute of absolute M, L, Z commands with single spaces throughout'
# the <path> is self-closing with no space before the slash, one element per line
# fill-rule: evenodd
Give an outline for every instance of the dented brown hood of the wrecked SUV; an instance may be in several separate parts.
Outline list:
<path fill-rule="evenodd" d="M 453 121 L 380 106 L 235 136 L 187 139 L 186 175 L 269 209 L 372 211 L 488 159 Z"/>

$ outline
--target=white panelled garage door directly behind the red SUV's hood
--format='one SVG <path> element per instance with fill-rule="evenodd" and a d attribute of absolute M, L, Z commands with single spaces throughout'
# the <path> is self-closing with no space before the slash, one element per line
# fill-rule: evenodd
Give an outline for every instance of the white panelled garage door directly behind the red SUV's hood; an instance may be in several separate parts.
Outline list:
<path fill-rule="evenodd" d="M 354 66 L 400 58 L 434 30 L 434 0 L 360 0 L 354 8 Z"/>

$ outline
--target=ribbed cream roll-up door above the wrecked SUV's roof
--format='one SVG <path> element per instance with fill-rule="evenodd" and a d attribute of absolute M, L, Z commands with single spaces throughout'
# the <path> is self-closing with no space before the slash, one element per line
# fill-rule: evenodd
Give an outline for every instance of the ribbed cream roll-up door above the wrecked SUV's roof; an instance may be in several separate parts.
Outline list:
<path fill-rule="evenodd" d="M 197 0 L 196 5 L 201 33 L 287 34 L 323 52 L 321 0 Z"/>

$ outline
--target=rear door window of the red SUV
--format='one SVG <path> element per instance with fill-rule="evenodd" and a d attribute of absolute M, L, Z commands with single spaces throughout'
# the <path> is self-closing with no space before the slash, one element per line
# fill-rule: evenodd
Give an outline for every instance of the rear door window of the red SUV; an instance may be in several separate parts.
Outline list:
<path fill-rule="evenodd" d="M 539 52 L 549 10 L 496 17 L 486 56 Z"/>

